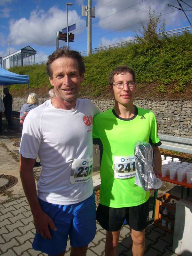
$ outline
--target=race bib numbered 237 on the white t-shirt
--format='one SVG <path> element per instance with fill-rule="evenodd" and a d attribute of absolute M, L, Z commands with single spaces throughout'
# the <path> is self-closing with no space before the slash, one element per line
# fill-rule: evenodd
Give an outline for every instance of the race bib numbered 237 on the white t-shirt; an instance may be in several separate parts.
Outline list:
<path fill-rule="evenodd" d="M 74 159 L 71 174 L 70 184 L 87 182 L 92 177 L 93 158 L 90 159 Z"/>

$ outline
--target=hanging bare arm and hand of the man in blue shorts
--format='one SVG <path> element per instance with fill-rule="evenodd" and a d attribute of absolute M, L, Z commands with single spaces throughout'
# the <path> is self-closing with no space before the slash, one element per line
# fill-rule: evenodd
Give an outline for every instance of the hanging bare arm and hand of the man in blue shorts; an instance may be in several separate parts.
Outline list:
<path fill-rule="evenodd" d="M 51 239 L 52 236 L 49 232 L 49 226 L 54 231 L 57 229 L 52 219 L 42 210 L 37 198 L 36 184 L 33 175 L 33 165 L 35 161 L 36 159 L 25 158 L 20 155 L 20 178 L 33 214 L 34 225 L 37 232 L 44 238 Z"/>

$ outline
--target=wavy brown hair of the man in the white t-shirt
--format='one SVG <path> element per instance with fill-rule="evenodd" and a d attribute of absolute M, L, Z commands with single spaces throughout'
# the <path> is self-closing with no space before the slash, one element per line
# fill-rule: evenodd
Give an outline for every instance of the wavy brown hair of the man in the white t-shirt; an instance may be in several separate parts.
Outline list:
<path fill-rule="evenodd" d="M 51 65 L 54 60 L 57 60 L 60 57 L 68 57 L 68 58 L 73 58 L 76 59 L 78 62 L 78 68 L 79 68 L 79 74 L 82 76 L 85 73 L 85 64 L 83 57 L 79 52 L 69 50 L 68 47 L 61 47 L 58 50 L 54 51 L 51 55 L 49 55 L 48 60 L 47 60 L 47 75 L 52 78 L 52 68 Z"/>

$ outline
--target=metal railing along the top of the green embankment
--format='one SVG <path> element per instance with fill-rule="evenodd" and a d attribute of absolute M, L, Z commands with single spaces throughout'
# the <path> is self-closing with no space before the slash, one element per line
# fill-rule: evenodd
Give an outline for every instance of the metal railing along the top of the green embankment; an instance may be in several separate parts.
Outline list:
<path fill-rule="evenodd" d="M 187 27 L 182 27 L 182 28 L 176 28 L 176 29 L 168 30 L 168 31 L 164 32 L 164 35 L 165 36 L 171 36 L 171 35 L 174 35 L 174 34 L 184 33 L 184 32 L 188 32 L 188 31 L 192 31 L 192 26 L 187 26 Z M 158 36 L 161 37 L 162 33 L 158 33 Z M 132 40 L 120 42 L 120 43 L 109 44 L 109 45 L 93 48 L 92 49 L 92 53 L 97 53 L 99 51 L 105 51 L 105 50 L 108 50 L 108 49 L 111 49 L 111 48 L 127 46 L 128 44 L 135 44 L 135 43 L 137 43 L 136 38 L 134 38 Z M 80 54 L 81 55 L 86 55 L 87 54 L 87 50 L 85 50 L 83 52 L 80 52 Z"/>

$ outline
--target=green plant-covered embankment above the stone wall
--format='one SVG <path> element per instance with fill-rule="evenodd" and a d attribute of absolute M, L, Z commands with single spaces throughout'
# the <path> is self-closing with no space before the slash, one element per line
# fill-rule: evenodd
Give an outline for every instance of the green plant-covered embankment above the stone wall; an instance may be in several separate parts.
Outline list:
<path fill-rule="evenodd" d="M 108 75 L 119 65 L 135 70 L 138 98 L 191 99 L 192 34 L 159 39 L 158 45 L 127 45 L 85 57 L 86 74 L 80 97 L 109 98 Z M 10 71 L 28 74 L 31 92 L 46 96 L 50 87 L 45 65 L 15 67 Z M 27 86 L 12 85 L 13 96 L 27 95 Z"/>

